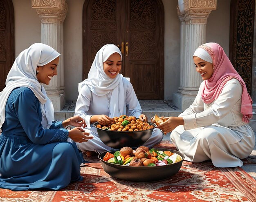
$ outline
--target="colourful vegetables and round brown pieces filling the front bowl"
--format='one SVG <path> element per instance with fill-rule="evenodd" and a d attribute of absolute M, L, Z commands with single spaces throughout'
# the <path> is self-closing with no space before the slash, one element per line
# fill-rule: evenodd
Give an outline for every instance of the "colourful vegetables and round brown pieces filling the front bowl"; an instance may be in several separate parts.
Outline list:
<path fill-rule="evenodd" d="M 111 154 L 111 155 L 110 155 Z M 107 152 L 103 160 L 126 166 L 162 166 L 180 162 L 182 157 L 171 151 L 161 149 L 149 149 L 148 147 L 138 147 L 132 150 L 130 147 L 123 147 L 114 154 Z"/>

